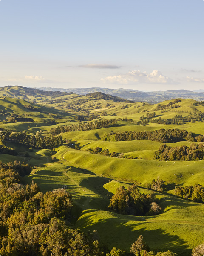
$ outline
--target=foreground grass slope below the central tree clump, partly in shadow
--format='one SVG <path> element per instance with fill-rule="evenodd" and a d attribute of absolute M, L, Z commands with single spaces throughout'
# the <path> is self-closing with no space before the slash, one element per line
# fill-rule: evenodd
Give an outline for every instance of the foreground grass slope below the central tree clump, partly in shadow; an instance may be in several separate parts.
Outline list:
<path fill-rule="evenodd" d="M 119 215 L 100 210 L 82 212 L 76 227 L 98 230 L 102 242 L 127 251 L 142 235 L 152 250 L 173 250 L 179 256 L 190 256 L 203 242 L 204 205 L 160 195 L 164 212 L 150 217 Z"/>

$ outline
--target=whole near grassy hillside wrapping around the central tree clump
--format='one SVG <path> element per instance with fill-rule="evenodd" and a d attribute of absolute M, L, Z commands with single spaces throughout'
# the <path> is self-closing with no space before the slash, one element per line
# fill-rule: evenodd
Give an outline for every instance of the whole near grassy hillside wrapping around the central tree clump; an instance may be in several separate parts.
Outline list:
<path fill-rule="evenodd" d="M 129 183 L 109 182 L 87 169 L 79 169 L 69 164 L 65 160 L 48 163 L 24 177 L 24 182 L 30 183 L 34 180 L 43 192 L 67 188 L 75 203 L 73 223 L 82 212 L 74 227 L 85 231 L 98 230 L 101 241 L 109 248 L 116 246 L 128 251 L 131 244 L 142 234 L 152 250 L 173 250 L 180 256 L 190 256 L 191 249 L 202 242 L 203 204 L 156 193 L 163 211 L 160 215 L 119 215 L 107 211 L 108 198 L 117 187 L 127 187 Z M 142 189 L 142 192 L 150 191 Z"/>

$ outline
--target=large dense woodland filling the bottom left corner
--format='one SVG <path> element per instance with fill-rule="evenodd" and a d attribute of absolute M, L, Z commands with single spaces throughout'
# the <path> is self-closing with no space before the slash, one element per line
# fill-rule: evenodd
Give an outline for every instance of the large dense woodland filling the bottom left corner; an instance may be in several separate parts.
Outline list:
<path fill-rule="evenodd" d="M 65 189 L 43 195 L 35 183 L 21 184 L 20 175 L 30 171 L 25 164 L 0 163 L 0 255 L 104 255 L 96 232 L 68 226 L 72 200 Z"/>

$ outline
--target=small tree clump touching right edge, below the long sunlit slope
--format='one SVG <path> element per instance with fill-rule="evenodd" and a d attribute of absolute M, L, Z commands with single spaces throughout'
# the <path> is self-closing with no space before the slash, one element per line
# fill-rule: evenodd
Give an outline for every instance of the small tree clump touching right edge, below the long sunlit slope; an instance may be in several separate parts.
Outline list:
<path fill-rule="evenodd" d="M 175 195 L 198 203 L 204 203 L 204 187 L 200 184 L 194 186 L 176 186 Z"/>

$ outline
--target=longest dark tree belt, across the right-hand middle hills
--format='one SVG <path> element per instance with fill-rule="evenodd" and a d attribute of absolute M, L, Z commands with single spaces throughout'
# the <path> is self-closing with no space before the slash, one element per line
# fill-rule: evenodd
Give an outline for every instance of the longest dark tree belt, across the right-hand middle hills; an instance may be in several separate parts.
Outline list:
<path fill-rule="evenodd" d="M 178 141 L 195 141 L 192 132 L 180 129 L 160 129 L 155 131 L 122 131 L 105 134 L 103 141 L 126 141 L 126 140 L 153 140 L 161 143 L 174 143 Z"/>

